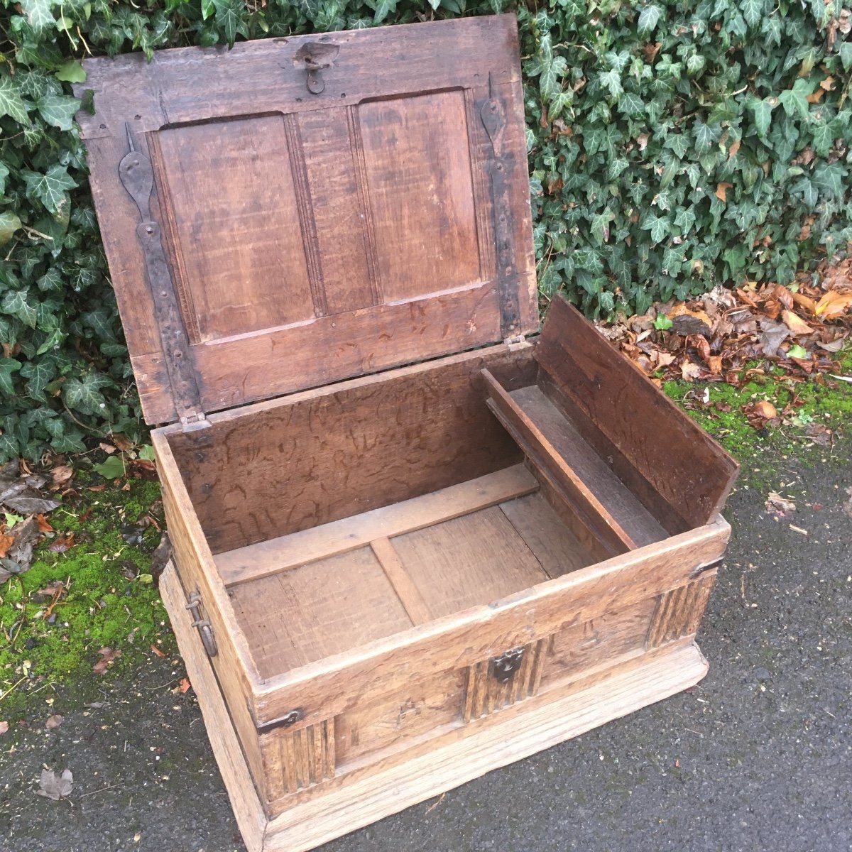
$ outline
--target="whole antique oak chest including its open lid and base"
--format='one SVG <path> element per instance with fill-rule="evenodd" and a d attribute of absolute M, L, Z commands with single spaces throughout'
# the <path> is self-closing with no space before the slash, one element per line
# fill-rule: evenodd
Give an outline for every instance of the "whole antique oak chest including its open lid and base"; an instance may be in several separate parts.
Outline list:
<path fill-rule="evenodd" d="M 79 121 L 245 843 L 665 698 L 735 463 L 557 298 L 512 16 L 85 63 Z"/>

